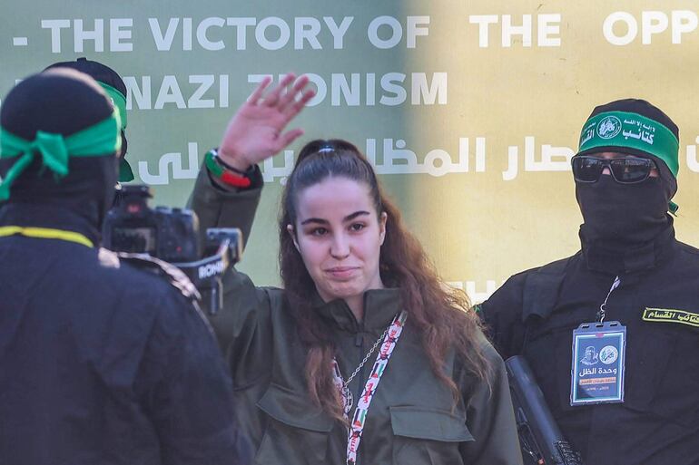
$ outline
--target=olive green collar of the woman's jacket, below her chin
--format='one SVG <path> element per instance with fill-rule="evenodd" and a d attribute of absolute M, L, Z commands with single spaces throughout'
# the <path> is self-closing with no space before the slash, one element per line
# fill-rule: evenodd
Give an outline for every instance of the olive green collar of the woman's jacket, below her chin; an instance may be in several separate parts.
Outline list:
<path fill-rule="evenodd" d="M 341 330 L 357 333 L 359 331 L 383 331 L 393 317 L 403 309 L 399 288 L 370 289 L 364 293 L 364 321 L 359 323 L 342 299 L 323 302 L 320 295 L 315 296 L 313 306 L 316 311 L 339 327 Z"/>

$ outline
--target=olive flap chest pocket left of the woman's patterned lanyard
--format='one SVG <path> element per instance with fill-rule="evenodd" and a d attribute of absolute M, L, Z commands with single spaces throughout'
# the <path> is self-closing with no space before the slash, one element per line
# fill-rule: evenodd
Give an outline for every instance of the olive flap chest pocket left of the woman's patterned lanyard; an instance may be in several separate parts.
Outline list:
<path fill-rule="evenodd" d="M 269 421 L 253 463 L 326 462 L 333 421 L 312 408 L 306 396 L 270 384 L 257 406 L 268 415 Z"/>

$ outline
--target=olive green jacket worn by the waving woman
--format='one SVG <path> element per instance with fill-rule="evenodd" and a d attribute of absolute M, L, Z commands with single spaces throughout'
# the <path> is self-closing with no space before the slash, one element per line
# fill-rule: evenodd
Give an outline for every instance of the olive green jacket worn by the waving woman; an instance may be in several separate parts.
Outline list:
<path fill-rule="evenodd" d="M 260 192 L 223 191 L 202 170 L 190 205 L 201 228 L 237 227 L 247 237 Z M 319 298 L 316 303 L 318 317 L 330 323 L 345 377 L 402 309 L 398 289 L 368 291 L 364 299 L 362 322 L 344 301 L 323 303 Z M 242 436 L 251 444 L 251 463 L 344 465 L 347 431 L 309 400 L 306 351 L 284 291 L 255 287 L 248 276 L 227 273 L 224 305 L 212 325 L 231 367 L 235 412 Z M 408 319 L 371 402 L 358 465 L 521 464 L 504 364 L 485 338 L 480 344 L 494 368 L 489 383 L 467 373 L 454 354 L 445 363 L 461 392 L 455 406 L 448 387 L 432 373 L 420 334 Z M 350 383 L 355 399 L 374 360 L 369 357 Z"/>

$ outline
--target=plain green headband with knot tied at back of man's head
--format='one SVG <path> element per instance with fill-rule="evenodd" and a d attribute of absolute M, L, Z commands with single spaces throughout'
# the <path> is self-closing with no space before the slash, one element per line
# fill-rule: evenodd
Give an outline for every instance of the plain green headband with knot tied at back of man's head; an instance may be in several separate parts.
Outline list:
<path fill-rule="evenodd" d="M 103 121 L 67 137 L 36 131 L 34 140 L 25 140 L 0 127 L 0 159 L 21 155 L 0 184 L 0 201 L 10 198 L 10 187 L 34 160 L 36 153 L 41 154 L 42 166 L 53 171 L 56 178 L 64 178 L 69 171 L 69 157 L 103 157 L 120 150 L 122 139 L 119 131 L 121 121 L 117 111 Z"/>

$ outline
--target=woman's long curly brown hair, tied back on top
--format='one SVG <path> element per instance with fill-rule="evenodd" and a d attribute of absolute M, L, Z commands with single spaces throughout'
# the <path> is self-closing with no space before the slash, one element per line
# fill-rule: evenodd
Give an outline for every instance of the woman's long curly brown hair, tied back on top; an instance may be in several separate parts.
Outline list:
<path fill-rule="evenodd" d="M 381 280 L 385 286 L 400 289 L 410 325 L 422 335 L 432 372 L 448 385 L 458 402 L 457 385 L 443 368 L 450 350 L 460 354 L 466 369 L 477 378 L 489 377 L 490 367 L 477 343 L 477 315 L 469 310 L 468 298 L 463 292 L 443 286 L 418 240 L 403 225 L 398 208 L 383 194 L 369 161 L 345 140 L 313 140 L 306 144 L 287 180 L 281 203 L 281 279 L 298 320 L 301 341 L 308 347 L 305 375 L 311 401 L 343 421 L 340 394 L 332 383 L 335 346 L 328 335 L 331 333 L 327 323 L 310 305 L 315 284 L 294 247 L 287 225 L 296 225 L 300 191 L 329 177 L 366 184 L 377 214 L 387 214 L 386 237 L 379 257 Z"/>

